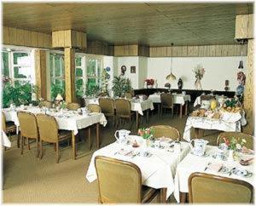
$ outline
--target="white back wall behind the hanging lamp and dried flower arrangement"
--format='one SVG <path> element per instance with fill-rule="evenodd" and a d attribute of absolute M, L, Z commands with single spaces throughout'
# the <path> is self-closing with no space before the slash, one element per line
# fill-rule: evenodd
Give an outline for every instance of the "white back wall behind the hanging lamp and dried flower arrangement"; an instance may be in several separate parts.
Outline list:
<path fill-rule="evenodd" d="M 193 69 L 201 64 L 206 73 L 201 79 L 202 89 L 224 90 L 224 81 L 230 80 L 230 91 L 235 91 L 238 85 L 236 73 L 241 71 L 237 67 L 241 57 L 174 57 L 172 60 L 172 73 L 183 79 L 183 89 L 195 89 L 195 74 Z M 246 73 L 247 57 L 242 57 Z M 171 70 L 171 58 L 148 58 L 148 78 L 158 81 L 158 87 L 164 88 L 166 75 Z M 177 89 L 177 80 L 172 81 L 172 89 Z M 143 79 L 139 80 L 140 82 Z"/>

